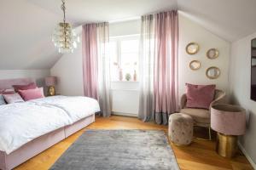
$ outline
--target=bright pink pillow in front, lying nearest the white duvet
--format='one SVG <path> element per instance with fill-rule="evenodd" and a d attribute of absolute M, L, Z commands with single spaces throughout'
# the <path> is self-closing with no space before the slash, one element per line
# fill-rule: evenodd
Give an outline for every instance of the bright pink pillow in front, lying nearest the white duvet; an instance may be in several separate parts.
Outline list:
<path fill-rule="evenodd" d="M 33 88 L 28 90 L 19 90 L 20 96 L 25 100 L 44 98 L 44 88 Z"/>

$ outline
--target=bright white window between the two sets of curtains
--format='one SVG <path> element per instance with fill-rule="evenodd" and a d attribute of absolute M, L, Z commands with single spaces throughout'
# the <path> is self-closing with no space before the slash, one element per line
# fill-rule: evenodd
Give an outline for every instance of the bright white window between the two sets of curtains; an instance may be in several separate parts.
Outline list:
<path fill-rule="evenodd" d="M 109 51 L 111 80 L 137 81 L 139 62 L 139 36 L 110 37 Z"/>

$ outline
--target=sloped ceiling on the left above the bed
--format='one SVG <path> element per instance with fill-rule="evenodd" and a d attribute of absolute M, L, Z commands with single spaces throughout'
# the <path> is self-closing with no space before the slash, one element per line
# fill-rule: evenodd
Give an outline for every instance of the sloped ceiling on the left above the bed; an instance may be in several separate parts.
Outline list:
<path fill-rule="evenodd" d="M 50 36 L 61 17 L 24 0 L 0 0 L 0 69 L 47 69 L 59 59 Z"/>

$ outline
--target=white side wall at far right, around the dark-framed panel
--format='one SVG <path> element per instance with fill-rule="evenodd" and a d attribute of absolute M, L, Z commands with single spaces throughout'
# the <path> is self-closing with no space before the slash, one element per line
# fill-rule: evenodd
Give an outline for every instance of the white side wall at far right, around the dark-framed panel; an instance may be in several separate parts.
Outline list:
<path fill-rule="evenodd" d="M 256 32 L 231 45 L 230 55 L 230 99 L 247 110 L 247 131 L 240 144 L 250 156 L 249 161 L 256 168 L 256 102 L 250 99 L 251 86 L 251 40 Z M 253 163 L 253 162 L 254 163 Z"/>

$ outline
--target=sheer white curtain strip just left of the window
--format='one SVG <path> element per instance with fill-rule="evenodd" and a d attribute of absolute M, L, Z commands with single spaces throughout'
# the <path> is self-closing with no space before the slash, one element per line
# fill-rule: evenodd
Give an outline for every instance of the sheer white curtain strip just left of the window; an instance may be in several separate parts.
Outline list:
<path fill-rule="evenodd" d="M 102 116 L 111 115 L 110 59 L 107 54 L 109 35 L 108 23 L 96 25 L 98 56 L 98 94 Z"/>

